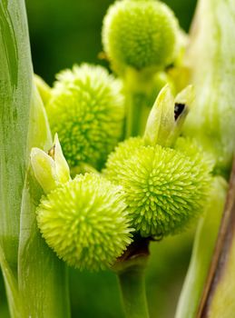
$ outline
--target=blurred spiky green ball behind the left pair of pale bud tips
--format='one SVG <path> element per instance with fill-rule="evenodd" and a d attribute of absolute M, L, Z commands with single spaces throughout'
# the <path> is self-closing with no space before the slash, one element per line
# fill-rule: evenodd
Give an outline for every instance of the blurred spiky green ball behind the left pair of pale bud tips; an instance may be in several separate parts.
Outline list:
<path fill-rule="evenodd" d="M 122 136 L 122 84 L 102 66 L 73 66 L 57 75 L 46 106 L 71 167 L 81 163 L 100 169 Z"/>

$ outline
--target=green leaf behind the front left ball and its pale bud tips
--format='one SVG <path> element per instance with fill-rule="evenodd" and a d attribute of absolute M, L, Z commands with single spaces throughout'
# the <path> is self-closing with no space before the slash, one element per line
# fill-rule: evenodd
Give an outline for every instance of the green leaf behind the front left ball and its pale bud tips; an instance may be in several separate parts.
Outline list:
<path fill-rule="evenodd" d="M 49 150 L 52 138 L 41 98 L 34 89 L 30 117 L 28 154 L 32 147 Z M 70 316 L 65 264 L 46 245 L 36 224 L 35 209 L 43 190 L 29 167 L 24 184 L 18 280 L 26 316 Z"/>

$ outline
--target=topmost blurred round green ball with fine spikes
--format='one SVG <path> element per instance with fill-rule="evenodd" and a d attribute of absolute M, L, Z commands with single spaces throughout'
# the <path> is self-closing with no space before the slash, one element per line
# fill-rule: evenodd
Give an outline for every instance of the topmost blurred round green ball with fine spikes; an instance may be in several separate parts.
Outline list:
<path fill-rule="evenodd" d="M 103 20 L 103 48 L 114 69 L 162 69 L 177 51 L 178 22 L 159 1 L 116 1 Z M 122 72 L 121 71 L 121 72 Z"/>

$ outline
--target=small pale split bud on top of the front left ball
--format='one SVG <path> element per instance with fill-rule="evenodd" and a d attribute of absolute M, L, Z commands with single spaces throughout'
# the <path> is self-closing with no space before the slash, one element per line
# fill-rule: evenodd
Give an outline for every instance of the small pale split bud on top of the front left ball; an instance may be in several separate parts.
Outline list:
<path fill-rule="evenodd" d="M 34 176 L 45 194 L 54 190 L 58 184 L 70 180 L 69 166 L 64 158 L 57 134 L 54 136 L 54 146 L 49 154 L 42 149 L 33 148 L 30 156 Z"/>

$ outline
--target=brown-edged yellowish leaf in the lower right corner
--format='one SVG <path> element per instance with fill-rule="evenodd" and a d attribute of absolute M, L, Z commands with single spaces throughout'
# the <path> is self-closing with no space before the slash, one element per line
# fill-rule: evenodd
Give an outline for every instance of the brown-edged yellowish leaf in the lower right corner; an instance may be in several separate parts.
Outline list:
<path fill-rule="evenodd" d="M 235 160 L 230 189 L 211 261 L 210 273 L 201 298 L 198 318 L 230 318 L 235 312 Z"/>

